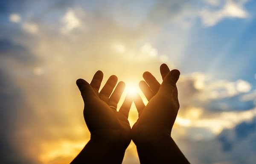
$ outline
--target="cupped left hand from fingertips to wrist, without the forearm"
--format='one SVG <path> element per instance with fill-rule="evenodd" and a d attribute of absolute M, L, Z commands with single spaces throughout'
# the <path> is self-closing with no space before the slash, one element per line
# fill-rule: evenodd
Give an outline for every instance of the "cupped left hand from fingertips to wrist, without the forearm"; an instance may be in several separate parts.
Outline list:
<path fill-rule="evenodd" d="M 76 82 L 84 100 L 84 120 L 91 133 L 90 140 L 124 151 L 131 142 L 128 113 L 132 99 L 126 96 L 119 111 L 116 111 L 125 83 L 116 85 L 117 77 L 112 75 L 99 92 L 102 79 L 102 71 L 97 71 L 90 84 L 84 79 Z"/>

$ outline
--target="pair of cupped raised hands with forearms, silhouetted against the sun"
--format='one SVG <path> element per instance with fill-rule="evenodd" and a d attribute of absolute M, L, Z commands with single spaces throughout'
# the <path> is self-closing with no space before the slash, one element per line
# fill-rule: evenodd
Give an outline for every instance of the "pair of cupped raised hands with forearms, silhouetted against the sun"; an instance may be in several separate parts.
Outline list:
<path fill-rule="evenodd" d="M 112 75 L 99 91 L 102 71 L 96 72 L 90 84 L 83 79 L 77 80 L 84 100 L 84 120 L 91 138 L 72 163 L 121 164 L 131 140 L 137 146 L 142 164 L 189 163 L 171 138 L 179 109 L 176 82 L 180 72 L 170 71 L 166 64 L 162 64 L 160 73 L 162 84 L 149 72 L 143 74 L 145 81 L 139 83 L 148 99 L 146 106 L 137 94 L 135 97 L 126 96 L 118 111 L 116 107 L 125 89 L 124 82 L 117 84 L 117 77 Z M 133 101 L 139 118 L 131 127 L 128 113 Z"/>

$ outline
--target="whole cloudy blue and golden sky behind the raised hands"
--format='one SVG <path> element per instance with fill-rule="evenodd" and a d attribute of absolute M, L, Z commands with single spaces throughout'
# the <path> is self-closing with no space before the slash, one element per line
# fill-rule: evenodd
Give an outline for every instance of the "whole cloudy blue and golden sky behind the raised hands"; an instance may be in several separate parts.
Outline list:
<path fill-rule="evenodd" d="M 166 63 L 181 72 L 172 137 L 188 160 L 253 164 L 255 28 L 255 0 L 0 0 L 0 163 L 69 163 L 90 139 L 76 79 L 101 70 L 140 92 Z M 134 143 L 123 164 L 139 164 Z"/>

